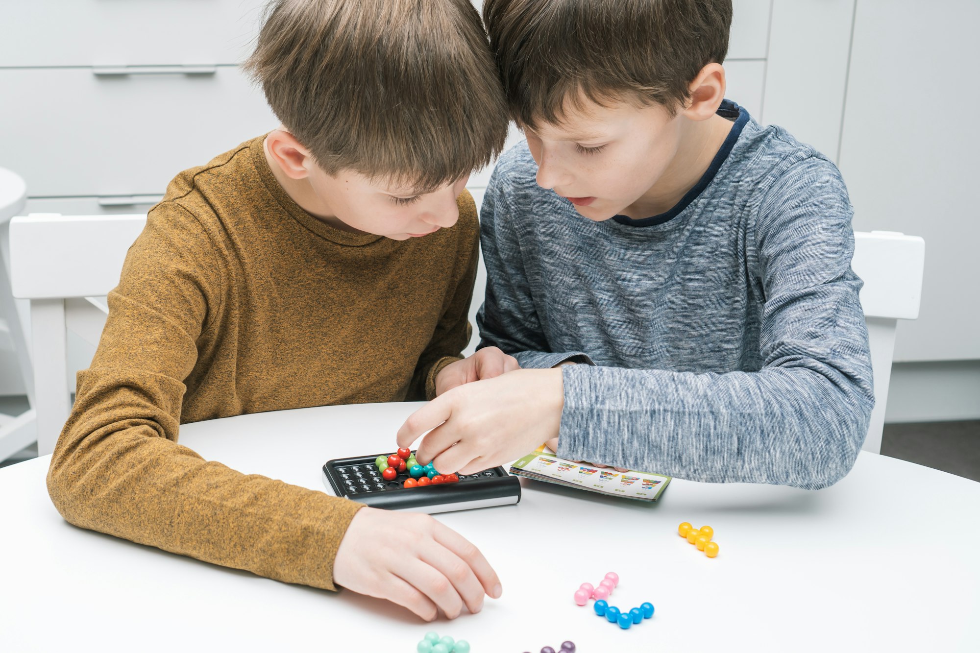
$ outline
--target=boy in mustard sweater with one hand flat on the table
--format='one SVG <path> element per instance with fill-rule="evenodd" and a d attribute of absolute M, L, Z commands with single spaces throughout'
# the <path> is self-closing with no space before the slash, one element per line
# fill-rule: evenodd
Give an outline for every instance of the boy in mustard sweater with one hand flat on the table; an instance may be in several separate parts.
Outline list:
<path fill-rule="evenodd" d="M 461 535 L 244 476 L 177 431 L 515 369 L 460 355 L 479 232 L 464 185 L 507 132 L 479 16 L 468 0 L 279 0 L 246 68 L 282 126 L 179 174 L 150 211 L 78 374 L 51 498 L 76 526 L 200 560 L 426 620 L 476 612 L 501 586 Z"/>

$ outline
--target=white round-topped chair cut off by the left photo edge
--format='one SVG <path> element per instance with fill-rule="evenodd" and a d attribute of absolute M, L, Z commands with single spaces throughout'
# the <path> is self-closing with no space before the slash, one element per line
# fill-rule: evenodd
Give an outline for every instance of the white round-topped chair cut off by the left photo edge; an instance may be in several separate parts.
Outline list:
<path fill-rule="evenodd" d="M 21 377 L 24 379 L 27 403 L 30 407 L 25 413 L 15 417 L 0 414 L 0 461 L 10 458 L 37 439 L 34 428 L 34 382 L 30 369 L 30 354 L 24 335 L 21 316 L 11 294 L 10 279 L 7 276 L 7 221 L 24 208 L 27 189 L 20 176 L 0 168 L 0 318 L 6 324 L 10 339 L 14 344 Z"/>

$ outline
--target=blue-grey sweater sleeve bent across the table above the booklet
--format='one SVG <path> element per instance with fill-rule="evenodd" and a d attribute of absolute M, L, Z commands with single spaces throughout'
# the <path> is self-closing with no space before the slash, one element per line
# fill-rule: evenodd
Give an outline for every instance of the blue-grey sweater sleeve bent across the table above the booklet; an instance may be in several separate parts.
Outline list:
<path fill-rule="evenodd" d="M 836 168 L 810 158 L 760 192 L 759 372 L 564 368 L 559 455 L 711 482 L 820 488 L 847 475 L 874 396 Z"/>

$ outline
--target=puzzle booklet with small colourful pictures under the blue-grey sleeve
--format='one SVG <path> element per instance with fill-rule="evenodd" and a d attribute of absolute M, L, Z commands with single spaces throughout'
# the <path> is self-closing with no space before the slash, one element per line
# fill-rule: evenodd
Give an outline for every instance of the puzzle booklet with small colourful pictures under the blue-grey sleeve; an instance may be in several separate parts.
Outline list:
<path fill-rule="evenodd" d="M 612 467 L 597 468 L 559 458 L 541 445 L 511 466 L 516 477 L 534 478 L 590 492 L 622 496 L 653 503 L 660 498 L 670 477 L 649 472 L 616 472 Z"/>

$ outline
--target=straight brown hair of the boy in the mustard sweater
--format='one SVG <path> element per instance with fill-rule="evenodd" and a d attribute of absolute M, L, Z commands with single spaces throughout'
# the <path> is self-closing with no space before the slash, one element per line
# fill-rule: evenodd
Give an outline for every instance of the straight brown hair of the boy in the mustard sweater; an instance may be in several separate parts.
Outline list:
<path fill-rule="evenodd" d="M 330 175 L 427 192 L 487 165 L 507 137 L 468 0 L 275 0 L 244 67 Z"/>

